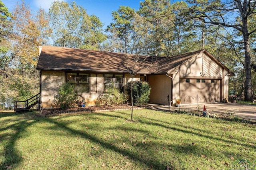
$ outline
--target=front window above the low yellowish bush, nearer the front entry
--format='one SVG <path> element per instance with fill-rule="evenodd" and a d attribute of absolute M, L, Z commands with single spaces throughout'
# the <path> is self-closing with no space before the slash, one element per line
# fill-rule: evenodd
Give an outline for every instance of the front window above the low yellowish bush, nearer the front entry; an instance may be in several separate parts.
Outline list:
<path fill-rule="evenodd" d="M 123 86 L 123 74 L 105 74 L 104 75 L 104 90 L 107 92 L 108 88 L 117 88 L 121 90 Z"/>

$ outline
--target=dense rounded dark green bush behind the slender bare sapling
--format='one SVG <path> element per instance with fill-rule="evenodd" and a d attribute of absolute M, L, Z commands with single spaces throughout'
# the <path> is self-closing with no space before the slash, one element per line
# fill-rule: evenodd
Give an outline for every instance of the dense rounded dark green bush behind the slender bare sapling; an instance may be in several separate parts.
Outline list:
<path fill-rule="evenodd" d="M 126 89 L 127 89 L 130 101 L 131 101 L 131 86 L 132 86 L 132 82 L 128 82 L 126 84 Z M 132 90 L 134 104 L 135 105 L 147 104 L 149 101 L 150 90 L 151 88 L 148 82 L 134 81 L 133 90 Z"/>

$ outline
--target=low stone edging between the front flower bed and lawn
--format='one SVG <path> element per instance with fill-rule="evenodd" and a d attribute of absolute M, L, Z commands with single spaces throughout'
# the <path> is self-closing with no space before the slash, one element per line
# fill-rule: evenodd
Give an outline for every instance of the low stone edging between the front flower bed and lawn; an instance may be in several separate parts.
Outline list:
<path fill-rule="evenodd" d="M 134 110 L 137 109 L 148 109 L 150 107 L 137 107 L 134 108 Z M 40 111 L 39 117 L 52 117 L 52 116 L 62 116 L 62 115 L 79 115 L 79 114 L 86 114 L 86 113 L 97 113 L 97 112 L 104 112 L 104 111 L 118 111 L 118 110 L 131 110 L 131 108 L 127 109 L 100 109 L 100 110 L 90 110 L 90 111 L 74 111 L 74 112 L 65 112 L 65 113 L 55 113 L 50 115 L 44 115 L 42 114 L 43 109 Z"/>

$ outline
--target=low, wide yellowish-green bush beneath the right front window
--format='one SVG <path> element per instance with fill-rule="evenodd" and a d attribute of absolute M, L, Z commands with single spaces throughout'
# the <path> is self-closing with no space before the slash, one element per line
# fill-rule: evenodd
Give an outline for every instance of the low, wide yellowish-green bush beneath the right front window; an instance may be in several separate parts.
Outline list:
<path fill-rule="evenodd" d="M 126 98 L 123 93 L 120 93 L 118 89 L 108 87 L 107 93 L 99 94 L 96 99 L 96 106 L 113 106 L 118 104 L 124 104 Z"/>

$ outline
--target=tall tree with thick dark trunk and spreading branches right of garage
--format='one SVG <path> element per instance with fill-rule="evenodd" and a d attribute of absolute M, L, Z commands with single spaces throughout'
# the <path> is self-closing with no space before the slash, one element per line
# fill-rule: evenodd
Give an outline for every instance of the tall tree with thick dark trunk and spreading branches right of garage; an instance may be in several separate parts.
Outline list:
<path fill-rule="evenodd" d="M 241 35 L 244 46 L 244 67 L 245 67 L 245 101 L 252 100 L 252 77 L 251 77 L 251 57 L 250 57 L 250 37 L 256 32 L 255 26 L 255 5 L 252 0 L 191 0 L 188 16 L 198 18 L 204 23 L 230 27 L 238 31 Z M 202 3 L 205 8 L 200 8 Z M 233 19 L 233 16 L 236 16 Z"/>

